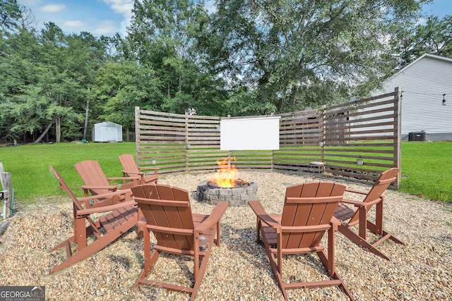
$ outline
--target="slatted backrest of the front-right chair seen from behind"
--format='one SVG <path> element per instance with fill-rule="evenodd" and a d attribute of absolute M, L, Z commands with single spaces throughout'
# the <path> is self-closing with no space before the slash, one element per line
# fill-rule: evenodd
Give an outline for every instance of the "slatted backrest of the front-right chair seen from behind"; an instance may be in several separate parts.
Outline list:
<path fill-rule="evenodd" d="M 287 188 L 281 226 L 285 249 L 319 245 L 339 202 L 345 185 L 313 182 Z M 317 226 L 311 232 L 297 232 L 297 226 Z M 306 230 L 306 228 L 304 229 Z"/>

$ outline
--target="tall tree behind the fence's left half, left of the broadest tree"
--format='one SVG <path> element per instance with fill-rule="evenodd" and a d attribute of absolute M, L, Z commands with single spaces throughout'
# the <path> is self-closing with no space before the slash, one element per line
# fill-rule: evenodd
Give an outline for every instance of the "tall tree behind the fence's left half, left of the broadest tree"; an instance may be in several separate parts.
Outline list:
<path fill-rule="evenodd" d="M 150 66 L 163 82 L 160 109 L 214 114 L 224 110 L 224 83 L 221 78 L 214 80 L 203 68 L 204 56 L 196 48 L 207 24 L 203 1 L 135 1 L 128 30 L 131 49 L 140 64 Z M 218 94 L 211 97 L 211 92 Z"/>

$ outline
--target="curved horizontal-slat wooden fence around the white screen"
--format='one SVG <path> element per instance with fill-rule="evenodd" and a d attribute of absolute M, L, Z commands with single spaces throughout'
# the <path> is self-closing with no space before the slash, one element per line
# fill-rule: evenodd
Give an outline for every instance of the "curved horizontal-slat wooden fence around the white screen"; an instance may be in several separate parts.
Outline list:
<path fill-rule="evenodd" d="M 309 162 L 321 161 L 330 176 L 373 182 L 381 171 L 400 168 L 399 92 L 280 114 L 280 149 L 273 151 L 220 150 L 220 117 L 136 107 L 138 166 L 156 166 L 159 173 L 215 171 L 218 160 L 235 157 L 239 169 L 303 173 Z"/>

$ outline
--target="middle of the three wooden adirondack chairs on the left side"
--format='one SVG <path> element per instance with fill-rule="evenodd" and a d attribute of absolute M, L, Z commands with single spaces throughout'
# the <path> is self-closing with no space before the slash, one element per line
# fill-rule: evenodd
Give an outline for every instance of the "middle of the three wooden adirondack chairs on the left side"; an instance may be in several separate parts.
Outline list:
<path fill-rule="evenodd" d="M 107 178 L 100 168 L 100 164 L 94 160 L 86 160 L 78 162 L 74 165 L 78 174 L 81 176 L 85 185 L 81 186 L 85 197 L 88 195 L 101 195 L 107 192 L 116 191 L 118 185 L 110 185 L 112 180 L 122 180 L 122 188 L 131 188 L 139 184 L 140 177 L 117 177 Z"/>

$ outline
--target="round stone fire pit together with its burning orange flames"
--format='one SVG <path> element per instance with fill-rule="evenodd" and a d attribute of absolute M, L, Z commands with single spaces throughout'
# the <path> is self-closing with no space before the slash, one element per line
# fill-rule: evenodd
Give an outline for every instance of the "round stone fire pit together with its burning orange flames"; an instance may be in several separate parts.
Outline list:
<path fill-rule="evenodd" d="M 232 161 L 237 159 L 223 159 L 217 161 L 219 169 L 210 180 L 199 183 L 196 197 L 200 202 L 217 204 L 228 202 L 231 206 L 247 204 L 251 199 L 257 199 L 257 183 L 238 178 L 238 171 Z"/>

